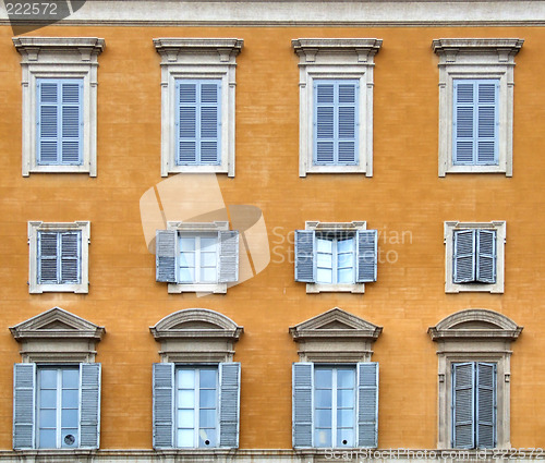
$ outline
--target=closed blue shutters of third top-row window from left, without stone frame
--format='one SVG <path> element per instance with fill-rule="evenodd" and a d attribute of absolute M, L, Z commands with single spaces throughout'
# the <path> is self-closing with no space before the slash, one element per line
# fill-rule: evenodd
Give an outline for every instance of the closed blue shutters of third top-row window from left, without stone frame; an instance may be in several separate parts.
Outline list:
<path fill-rule="evenodd" d="M 359 165 L 358 81 L 314 81 L 314 165 Z"/>

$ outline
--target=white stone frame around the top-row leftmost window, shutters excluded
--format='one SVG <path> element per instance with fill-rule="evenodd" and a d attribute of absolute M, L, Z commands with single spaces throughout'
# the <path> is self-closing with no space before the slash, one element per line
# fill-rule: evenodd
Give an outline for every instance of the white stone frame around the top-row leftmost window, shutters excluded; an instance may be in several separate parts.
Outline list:
<path fill-rule="evenodd" d="M 14 37 L 23 69 L 23 176 L 34 172 L 97 175 L 98 56 L 104 38 Z M 80 166 L 38 166 L 36 147 L 37 80 L 83 81 L 83 146 Z"/>

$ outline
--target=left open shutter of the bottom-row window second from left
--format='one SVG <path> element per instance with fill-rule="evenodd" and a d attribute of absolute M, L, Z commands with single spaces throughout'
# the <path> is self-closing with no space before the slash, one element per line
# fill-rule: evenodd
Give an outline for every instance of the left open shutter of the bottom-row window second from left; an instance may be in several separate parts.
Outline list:
<path fill-rule="evenodd" d="M 174 447 L 174 364 L 154 364 L 154 449 Z"/>

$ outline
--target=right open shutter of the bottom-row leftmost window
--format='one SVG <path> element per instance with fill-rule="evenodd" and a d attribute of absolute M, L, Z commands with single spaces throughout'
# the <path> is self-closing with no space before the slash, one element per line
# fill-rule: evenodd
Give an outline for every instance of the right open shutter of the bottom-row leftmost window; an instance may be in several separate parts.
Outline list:
<path fill-rule="evenodd" d="M 100 364 L 80 364 L 80 447 L 100 442 Z"/>

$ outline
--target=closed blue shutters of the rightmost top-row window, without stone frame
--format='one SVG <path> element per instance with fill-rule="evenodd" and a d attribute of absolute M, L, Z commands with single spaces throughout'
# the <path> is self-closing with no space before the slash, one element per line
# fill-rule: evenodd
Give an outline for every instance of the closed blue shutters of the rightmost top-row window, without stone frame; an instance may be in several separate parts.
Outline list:
<path fill-rule="evenodd" d="M 452 162 L 498 166 L 499 81 L 453 81 Z"/>

